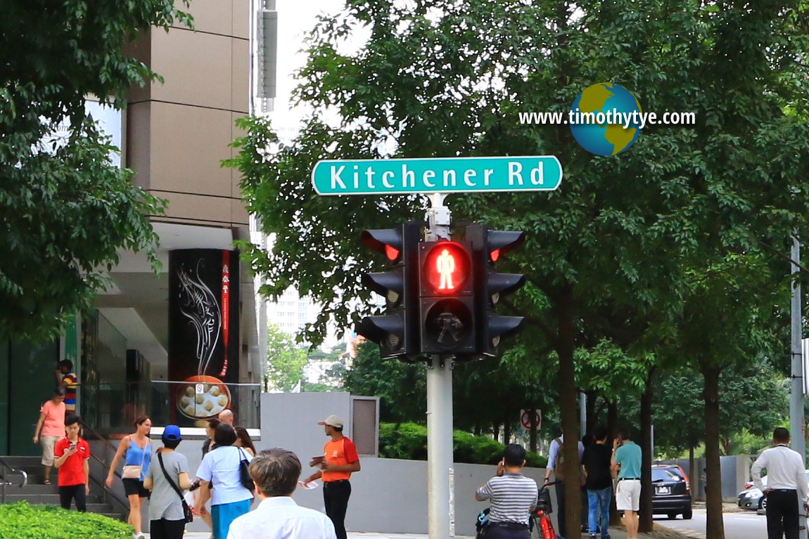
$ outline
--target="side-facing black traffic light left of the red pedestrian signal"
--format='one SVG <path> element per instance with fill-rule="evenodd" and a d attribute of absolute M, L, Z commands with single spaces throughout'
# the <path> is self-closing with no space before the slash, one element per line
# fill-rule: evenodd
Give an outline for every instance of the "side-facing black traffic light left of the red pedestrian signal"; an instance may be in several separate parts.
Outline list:
<path fill-rule="evenodd" d="M 383 359 L 413 360 L 418 340 L 418 252 L 422 224 L 410 221 L 398 229 L 363 230 L 362 242 L 383 253 L 391 269 L 364 273 L 362 284 L 385 298 L 386 313 L 362 318 L 357 333 L 379 344 Z"/>

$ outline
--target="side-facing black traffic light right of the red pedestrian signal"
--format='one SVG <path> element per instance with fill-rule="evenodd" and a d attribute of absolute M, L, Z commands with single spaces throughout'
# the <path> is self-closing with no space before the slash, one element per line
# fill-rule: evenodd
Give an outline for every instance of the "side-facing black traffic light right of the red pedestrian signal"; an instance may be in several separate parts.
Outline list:
<path fill-rule="evenodd" d="M 525 233 L 515 230 L 489 230 L 481 224 L 466 227 L 467 241 L 472 245 L 473 274 L 476 282 L 476 312 L 478 314 L 478 347 L 481 356 L 497 356 L 497 347 L 504 337 L 519 331 L 521 316 L 497 314 L 498 301 L 525 284 L 519 273 L 499 273 L 495 263 L 515 247 L 523 245 Z"/>

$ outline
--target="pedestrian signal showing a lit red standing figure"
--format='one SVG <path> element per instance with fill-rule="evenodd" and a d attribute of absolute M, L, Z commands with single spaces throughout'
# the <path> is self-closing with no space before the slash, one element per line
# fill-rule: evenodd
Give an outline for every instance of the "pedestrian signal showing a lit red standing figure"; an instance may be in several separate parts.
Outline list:
<path fill-rule="evenodd" d="M 422 242 L 418 267 L 421 353 L 474 352 L 475 280 L 468 243 Z"/>

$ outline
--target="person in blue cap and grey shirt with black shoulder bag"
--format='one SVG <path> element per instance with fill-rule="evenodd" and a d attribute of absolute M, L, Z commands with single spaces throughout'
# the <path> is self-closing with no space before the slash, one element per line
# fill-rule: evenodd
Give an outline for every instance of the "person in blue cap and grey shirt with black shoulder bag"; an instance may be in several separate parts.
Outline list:
<path fill-rule="evenodd" d="M 193 520 L 183 491 L 191 488 L 188 460 L 175 449 L 182 441 L 180 427 L 163 429 L 163 448 L 158 449 L 158 465 L 149 467 L 143 486 L 151 491 L 149 520 L 151 539 L 182 539 L 185 523 Z"/>

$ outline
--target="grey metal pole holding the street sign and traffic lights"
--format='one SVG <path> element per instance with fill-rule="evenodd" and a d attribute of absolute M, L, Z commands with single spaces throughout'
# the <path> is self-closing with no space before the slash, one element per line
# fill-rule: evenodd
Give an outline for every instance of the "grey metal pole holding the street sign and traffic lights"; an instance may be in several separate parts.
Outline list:
<path fill-rule="evenodd" d="M 451 213 L 443 205 L 445 197 L 442 193 L 430 196 L 427 241 L 450 239 Z M 433 356 L 427 364 L 427 532 L 430 539 L 448 539 L 453 533 L 453 475 L 452 356 Z"/>

